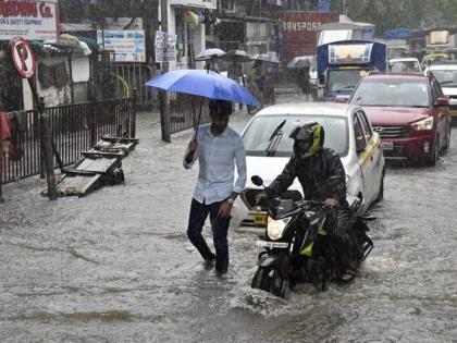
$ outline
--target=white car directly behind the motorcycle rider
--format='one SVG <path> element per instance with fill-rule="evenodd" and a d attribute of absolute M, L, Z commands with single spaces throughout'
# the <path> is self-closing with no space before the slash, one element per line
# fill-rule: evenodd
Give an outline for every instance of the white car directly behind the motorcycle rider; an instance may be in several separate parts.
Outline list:
<path fill-rule="evenodd" d="M 275 128 L 284 121 L 280 135 L 270 140 Z M 294 143 L 288 137 L 292 130 L 300 122 L 313 121 L 324 126 L 324 146 L 339 155 L 346 171 L 348 196 L 362 200 L 361 212 L 376 199 L 382 199 L 384 157 L 381 139 L 360 107 L 332 102 L 275 105 L 256 113 L 243 131 L 248 180 L 245 192 L 234 204 L 232 226 L 238 231 L 259 233 L 259 228 L 254 223 L 254 213 L 255 196 L 261 188 L 254 185 L 250 177 L 259 175 L 269 185 L 289 160 Z M 298 179 L 282 197 L 302 197 Z"/>

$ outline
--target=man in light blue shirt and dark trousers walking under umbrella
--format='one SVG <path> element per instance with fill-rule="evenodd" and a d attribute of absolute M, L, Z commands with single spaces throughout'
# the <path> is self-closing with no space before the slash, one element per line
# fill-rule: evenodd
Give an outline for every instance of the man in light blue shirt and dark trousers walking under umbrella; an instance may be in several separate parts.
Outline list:
<path fill-rule="evenodd" d="M 210 101 L 211 123 L 199 127 L 184 156 L 184 168 L 199 161 L 197 186 L 190 205 L 187 236 L 208 267 L 215 260 L 215 271 L 222 275 L 228 268 L 227 231 L 233 204 L 245 188 L 247 170 L 243 137 L 228 127 L 232 103 Z M 237 179 L 235 180 L 235 168 Z M 201 235 L 210 217 L 215 255 Z"/>

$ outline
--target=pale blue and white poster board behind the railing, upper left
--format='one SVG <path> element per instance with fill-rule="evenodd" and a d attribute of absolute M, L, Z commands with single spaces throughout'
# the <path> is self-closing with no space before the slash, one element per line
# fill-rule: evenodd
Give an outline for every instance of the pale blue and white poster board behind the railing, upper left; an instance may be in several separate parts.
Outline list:
<path fill-rule="evenodd" d="M 113 52 L 113 62 L 146 62 L 144 30 L 98 29 L 97 44 Z"/>

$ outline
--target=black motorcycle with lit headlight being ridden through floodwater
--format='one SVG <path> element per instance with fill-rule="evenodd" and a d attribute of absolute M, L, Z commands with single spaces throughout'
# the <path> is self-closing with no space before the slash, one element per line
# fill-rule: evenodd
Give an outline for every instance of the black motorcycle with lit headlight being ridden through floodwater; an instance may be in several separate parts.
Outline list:
<path fill-rule="evenodd" d="M 263 186 L 260 176 L 251 180 L 254 184 Z M 349 206 L 350 266 L 355 270 L 373 248 L 373 242 L 367 235 L 366 221 L 374 218 L 358 216 L 360 207 L 358 198 L 354 198 Z M 322 201 L 273 198 L 260 207 L 255 219 L 265 223 L 265 231 L 263 240 L 256 245 L 265 250 L 259 255 L 259 267 L 251 286 L 281 297 L 291 286 L 302 282 L 311 282 L 318 290 L 324 291 L 326 282 L 339 275 L 334 245 L 325 230 L 328 217 L 329 209 Z"/>

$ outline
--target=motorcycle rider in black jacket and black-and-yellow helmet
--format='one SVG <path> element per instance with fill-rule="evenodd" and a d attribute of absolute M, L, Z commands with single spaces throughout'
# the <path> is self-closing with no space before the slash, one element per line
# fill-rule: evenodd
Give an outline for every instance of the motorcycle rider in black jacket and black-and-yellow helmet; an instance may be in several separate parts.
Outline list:
<path fill-rule="evenodd" d="M 323 147 L 325 133 L 320 123 L 299 124 L 289 135 L 294 152 L 283 172 L 256 197 L 257 204 L 281 196 L 295 177 L 301 184 L 306 200 L 323 201 L 326 231 L 334 248 L 342 281 L 354 279 L 351 237 L 348 228 L 349 206 L 346 200 L 346 173 L 339 156 Z"/>

